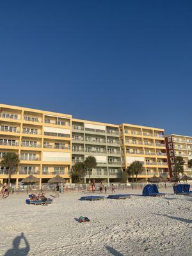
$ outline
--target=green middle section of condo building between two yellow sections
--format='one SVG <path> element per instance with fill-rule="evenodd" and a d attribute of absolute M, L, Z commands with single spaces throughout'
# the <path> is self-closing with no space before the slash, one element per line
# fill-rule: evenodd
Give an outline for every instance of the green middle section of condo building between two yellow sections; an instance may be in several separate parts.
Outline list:
<path fill-rule="evenodd" d="M 120 182 L 122 157 L 119 126 L 72 118 L 72 164 L 94 156 L 97 167 L 86 173 L 95 182 Z"/>

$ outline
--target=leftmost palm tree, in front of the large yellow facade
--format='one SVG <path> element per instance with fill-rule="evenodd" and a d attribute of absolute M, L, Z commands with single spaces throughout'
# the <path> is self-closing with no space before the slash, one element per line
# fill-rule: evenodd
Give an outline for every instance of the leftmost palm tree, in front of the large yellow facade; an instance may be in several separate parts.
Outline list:
<path fill-rule="evenodd" d="M 15 152 L 7 152 L 5 155 L 3 155 L 1 166 L 8 168 L 8 184 L 10 184 L 12 173 L 17 170 L 19 163 L 19 156 Z"/>

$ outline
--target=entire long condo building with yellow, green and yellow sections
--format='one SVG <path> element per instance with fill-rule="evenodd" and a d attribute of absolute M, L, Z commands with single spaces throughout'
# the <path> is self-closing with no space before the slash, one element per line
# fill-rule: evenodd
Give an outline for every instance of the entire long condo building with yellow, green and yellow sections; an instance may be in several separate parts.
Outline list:
<path fill-rule="evenodd" d="M 0 161 L 7 152 L 19 155 L 13 170 L 16 185 L 33 174 L 46 183 L 57 174 L 71 182 L 72 166 L 94 156 L 97 167 L 89 170 L 95 182 L 120 182 L 133 161 L 144 169 L 138 180 L 168 172 L 164 130 L 129 124 L 105 124 L 72 118 L 72 115 L 0 104 Z M 8 170 L 1 166 L 0 182 Z M 132 177 L 129 177 L 132 180 Z"/>

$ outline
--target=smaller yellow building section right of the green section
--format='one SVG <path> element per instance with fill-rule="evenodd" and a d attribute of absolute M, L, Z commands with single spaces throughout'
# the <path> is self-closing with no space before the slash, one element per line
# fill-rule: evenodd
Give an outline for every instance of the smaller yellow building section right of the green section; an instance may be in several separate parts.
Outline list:
<path fill-rule="evenodd" d="M 140 125 L 120 125 L 120 143 L 124 157 L 122 168 L 127 170 L 133 161 L 143 163 L 139 180 L 168 173 L 164 130 Z"/>

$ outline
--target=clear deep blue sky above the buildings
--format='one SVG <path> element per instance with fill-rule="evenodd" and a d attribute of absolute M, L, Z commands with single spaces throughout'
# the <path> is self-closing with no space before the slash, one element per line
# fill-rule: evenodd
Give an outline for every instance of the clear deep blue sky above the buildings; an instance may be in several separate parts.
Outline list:
<path fill-rule="evenodd" d="M 4 104 L 192 135 L 192 1 L 1 1 Z"/>

